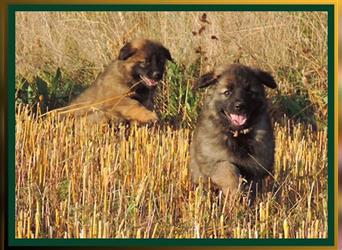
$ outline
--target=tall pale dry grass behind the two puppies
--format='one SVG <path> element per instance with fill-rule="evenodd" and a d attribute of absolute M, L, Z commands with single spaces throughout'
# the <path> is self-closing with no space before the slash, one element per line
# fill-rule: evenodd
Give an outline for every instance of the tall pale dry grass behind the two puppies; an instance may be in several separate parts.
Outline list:
<path fill-rule="evenodd" d="M 32 76 L 39 70 L 62 67 L 74 77 L 81 69 L 93 70 L 96 75 L 126 41 L 148 37 L 162 42 L 174 59 L 184 64 L 198 58 L 200 47 L 206 57 L 203 70 L 234 60 L 272 72 L 287 66 L 310 74 L 314 85 L 327 86 L 322 69 L 327 64 L 326 13 L 208 12 L 209 24 L 200 21 L 202 14 L 19 12 L 17 73 Z M 286 88 L 293 83 L 279 84 Z"/>

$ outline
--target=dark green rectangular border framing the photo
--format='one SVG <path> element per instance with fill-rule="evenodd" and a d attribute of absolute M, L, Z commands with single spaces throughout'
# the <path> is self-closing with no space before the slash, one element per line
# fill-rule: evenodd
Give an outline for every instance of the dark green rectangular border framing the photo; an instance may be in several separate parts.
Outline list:
<path fill-rule="evenodd" d="M 8 5 L 8 245 L 9 246 L 334 246 L 334 4 Z M 15 238 L 15 13 L 16 11 L 322 11 L 328 14 L 328 238 L 327 239 L 16 239 Z"/>

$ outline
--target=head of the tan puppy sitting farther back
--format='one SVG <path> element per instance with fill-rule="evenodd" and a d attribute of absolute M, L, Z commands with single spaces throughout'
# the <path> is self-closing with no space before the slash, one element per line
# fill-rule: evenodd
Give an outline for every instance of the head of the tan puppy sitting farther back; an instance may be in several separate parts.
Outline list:
<path fill-rule="evenodd" d="M 158 42 L 146 39 L 126 43 L 121 48 L 118 59 L 125 61 L 134 82 L 141 82 L 149 88 L 157 86 L 163 77 L 166 61 L 172 61 L 168 49 Z"/>

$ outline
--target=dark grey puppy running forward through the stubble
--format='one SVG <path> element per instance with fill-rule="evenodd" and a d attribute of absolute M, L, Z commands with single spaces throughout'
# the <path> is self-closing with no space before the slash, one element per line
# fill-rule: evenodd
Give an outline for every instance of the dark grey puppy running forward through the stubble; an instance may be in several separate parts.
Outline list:
<path fill-rule="evenodd" d="M 210 88 L 190 148 L 195 183 L 210 178 L 234 194 L 240 176 L 255 184 L 272 172 L 275 142 L 264 85 L 277 86 L 269 73 L 241 64 L 199 78 L 195 88 Z"/>

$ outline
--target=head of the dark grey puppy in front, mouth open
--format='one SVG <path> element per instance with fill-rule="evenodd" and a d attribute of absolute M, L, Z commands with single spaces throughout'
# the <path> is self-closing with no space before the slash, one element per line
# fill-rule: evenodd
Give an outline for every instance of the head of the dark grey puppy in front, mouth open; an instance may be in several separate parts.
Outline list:
<path fill-rule="evenodd" d="M 267 112 L 264 86 L 276 88 L 276 82 L 265 71 L 232 64 L 201 76 L 195 88 L 207 86 L 210 110 L 225 127 L 240 130 Z"/>

